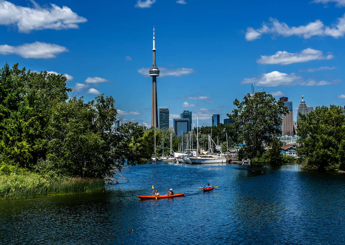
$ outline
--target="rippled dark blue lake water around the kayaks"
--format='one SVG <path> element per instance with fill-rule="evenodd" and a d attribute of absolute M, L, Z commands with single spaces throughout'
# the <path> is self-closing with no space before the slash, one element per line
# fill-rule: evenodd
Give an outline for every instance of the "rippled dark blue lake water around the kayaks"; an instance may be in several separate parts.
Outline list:
<path fill-rule="evenodd" d="M 150 164 L 125 176 L 104 193 L 0 201 L 0 244 L 345 244 L 345 174 Z M 186 196 L 140 201 L 152 185 Z"/>

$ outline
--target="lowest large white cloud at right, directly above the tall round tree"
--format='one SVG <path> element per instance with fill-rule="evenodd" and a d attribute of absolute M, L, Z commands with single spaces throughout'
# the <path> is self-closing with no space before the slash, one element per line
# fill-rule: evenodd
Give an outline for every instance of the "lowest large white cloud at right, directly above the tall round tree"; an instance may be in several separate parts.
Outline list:
<path fill-rule="evenodd" d="M 277 86 L 321 86 L 338 81 L 328 82 L 325 80 L 315 81 L 313 79 L 305 80 L 302 76 L 297 76 L 295 73 L 283 73 L 279 71 L 273 71 L 266 74 L 262 74 L 256 78 L 245 78 L 241 81 L 242 84 L 255 83 L 258 86 L 277 87 Z"/>

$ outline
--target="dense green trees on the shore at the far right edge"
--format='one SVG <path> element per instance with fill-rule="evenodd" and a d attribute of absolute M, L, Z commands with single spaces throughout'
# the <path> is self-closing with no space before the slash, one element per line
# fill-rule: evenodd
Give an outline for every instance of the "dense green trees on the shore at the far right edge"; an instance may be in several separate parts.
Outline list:
<path fill-rule="evenodd" d="M 306 168 L 339 170 L 345 167 L 345 117 L 341 106 L 317 106 L 297 121 L 300 147 L 298 155 Z"/>

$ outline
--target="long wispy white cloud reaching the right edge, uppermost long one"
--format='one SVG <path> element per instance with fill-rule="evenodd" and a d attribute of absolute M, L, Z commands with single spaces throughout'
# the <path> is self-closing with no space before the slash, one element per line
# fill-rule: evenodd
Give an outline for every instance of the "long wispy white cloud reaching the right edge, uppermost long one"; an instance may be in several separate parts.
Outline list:
<path fill-rule="evenodd" d="M 289 27 L 284 22 L 279 22 L 277 19 L 269 18 L 270 23 L 263 23 L 259 29 L 252 27 L 247 28 L 246 40 L 253 41 L 261 38 L 262 34 L 272 33 L 275 35 L 282 35 L 290 37 L 297 35 L 305 39 L 313 36 L 331 36 L 333 38 L 343 37 L 345 35 L 345 14 L 343 17 L 338 18 L 337 22 L 331 27 L 325 26 L 321 20 L 310 22 L 307 25 L 300 25 L 298 27 Z"/>

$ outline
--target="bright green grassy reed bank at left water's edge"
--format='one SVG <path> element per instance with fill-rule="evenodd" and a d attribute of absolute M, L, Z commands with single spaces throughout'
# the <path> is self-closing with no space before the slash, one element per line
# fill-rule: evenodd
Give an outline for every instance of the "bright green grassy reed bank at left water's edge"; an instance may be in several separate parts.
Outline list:
<path fill-rule="evenodd" d="M 95 178 L 66 178 L 50 182 L 31 173 L 0 175 L 0 200 L 27 199 L 47 195 L 73 195 L 104 190 L 104 180 Z"/>

